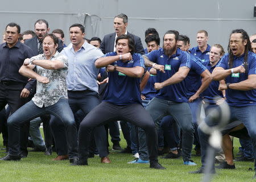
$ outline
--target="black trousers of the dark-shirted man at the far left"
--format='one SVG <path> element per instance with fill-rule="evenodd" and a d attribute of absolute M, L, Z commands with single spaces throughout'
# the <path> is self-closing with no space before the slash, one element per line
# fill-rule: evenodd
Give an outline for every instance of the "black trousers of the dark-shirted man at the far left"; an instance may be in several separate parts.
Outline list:
<path fill-rule="evenodd" d="M 10 114 L 13 114 L 19 107 L 23 106 L 30 98 L 20 98 L 20 93 L 26 84 L 12 82 L 11 84 L 0 83 L 0 110 L 7 104 L 10 106 Z M 8 116 L 7 116 L 8 117 Z M 24 123 L 20 127 L 20 154 L 27 156 L 27 139 L 30 123 Z"/>

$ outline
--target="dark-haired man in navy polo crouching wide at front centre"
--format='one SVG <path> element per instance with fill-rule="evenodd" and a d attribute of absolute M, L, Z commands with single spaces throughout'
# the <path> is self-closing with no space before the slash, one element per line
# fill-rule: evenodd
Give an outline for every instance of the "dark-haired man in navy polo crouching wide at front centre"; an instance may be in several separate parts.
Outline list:
<path fill-rule="evenodd" d="M 90 133 L 98 125 L 108 121 L 127 121 L 146 131 L 150 154 L 150 168 L 164 169 L 158 163 L 158 144 L 154 122 L 141 103 L 140 78 L 144 72 L 144 60 L 134 53 L 134 40 L 121 35 L 115 41 L 116 52 L 109 52 L 95 61 L 96 68 L 106 67 L 109 84 L 103 102 L 86 115 L 79 129 L 79 161 L 88 165 Z"/>

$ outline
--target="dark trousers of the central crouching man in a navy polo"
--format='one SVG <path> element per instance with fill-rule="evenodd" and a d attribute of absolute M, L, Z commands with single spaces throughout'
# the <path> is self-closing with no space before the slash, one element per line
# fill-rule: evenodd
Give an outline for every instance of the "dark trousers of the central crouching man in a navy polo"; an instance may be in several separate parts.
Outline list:
<path fill-rule="evenodd" d="M 108 102 L 101 102 L 80 123 L 79 159 L 88 158 L 90 133 L 94 127 L 117 120 L 133 123 L 145 130 L 150 163 L 158 162 L 158 137 L 150 114 L 140 104 L 118 106 Z"/>

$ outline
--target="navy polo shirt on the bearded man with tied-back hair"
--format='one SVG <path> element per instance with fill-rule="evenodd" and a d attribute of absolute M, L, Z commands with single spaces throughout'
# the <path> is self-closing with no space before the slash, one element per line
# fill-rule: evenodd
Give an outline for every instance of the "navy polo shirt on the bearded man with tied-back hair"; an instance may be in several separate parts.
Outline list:
<path fill-rule="evenodd" d="M 164 65 L 165 73 L 157 71 L 156 82 L 163 82 L 172 77 L 179 71 L 180 67 L 191 67 L 191 56 L 189 53 L 181 51 L 180 48 L 177 48 L 176 53 L 171 57 L 165 55 L 163 49 L 147 53 L 146 56 L 150 61 Z M 156 97 L 168 101 L 188 102 L 185 80 L 177 84 L 164 86 L 156 94 Z"/>

